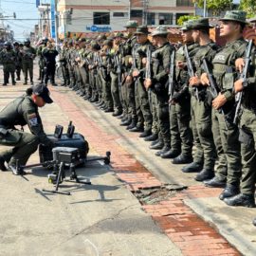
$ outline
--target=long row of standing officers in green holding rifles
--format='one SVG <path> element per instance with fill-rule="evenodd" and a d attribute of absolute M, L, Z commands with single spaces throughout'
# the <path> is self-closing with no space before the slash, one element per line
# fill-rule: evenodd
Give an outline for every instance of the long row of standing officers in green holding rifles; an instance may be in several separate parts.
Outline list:
<path fill-rule="evenodd" d="M 224 188 L 220 199 L 228 205 L 255 207 L 254 46 L 243 38 L 246 12 L 228 11 L 220 22 L 222 47 L 210 40 L 205 18 L 181 27 L 179 47 L 168 42 L 166 27 L 155 28 L 150 42 L 148 28 L 133 21 L 127 38 L 64 43 L 62 85 L 121 117 L 120 125 L 152 141 L 155 155 Z M 236 95 L 243 95 L 239 111 Z"/>

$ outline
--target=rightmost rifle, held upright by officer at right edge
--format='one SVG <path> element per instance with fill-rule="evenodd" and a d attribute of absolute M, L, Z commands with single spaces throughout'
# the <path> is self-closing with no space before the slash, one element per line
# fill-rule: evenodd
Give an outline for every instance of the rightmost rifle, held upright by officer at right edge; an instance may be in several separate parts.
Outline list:
<path fill-rule="evenodd" d="M 251 57 L 250 57 L 251 48 L 252 48 L 252 40 L 249 40 L 247 43 L 245 66 L 244 66 L 243 72 L 239 76 L 239 79 L 244 80 L 246 83 L 247 83 L 247 72 L 248 72 L 250 61 L 251 61 Z M 245 84 L 244 86 L 246 87 L 247 84 Z M 239 117 L 241 115 L 241 105 L 242 105 L 243 95 L 244 95 L 244 92 L 242 91 L 242 92 L 238 92 L 235 96 L 236 108 L 235 108 L 235 116 L 234 116 L 233 123 L 236 125 L 238 124 Z"/>

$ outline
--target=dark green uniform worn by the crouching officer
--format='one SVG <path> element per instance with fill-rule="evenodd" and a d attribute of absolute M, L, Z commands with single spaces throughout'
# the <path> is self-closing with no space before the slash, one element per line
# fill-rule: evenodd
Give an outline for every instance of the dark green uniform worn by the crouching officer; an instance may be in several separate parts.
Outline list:
<path fill-rule="evenodd" d="M 17 125 L 28 125 L 32 134 L 16 130 Z M 17 98 L 0 112 L 0 127 L 4 129 L 0 130 L 0 144 L 14 146 L 1 154 L 9 165 L 16 166 L 16 160 L 19 160 L 21 165 L 26 165 L 39 143 L 52 144 L 44 132 L 38 106 L 29 96 Z"/>

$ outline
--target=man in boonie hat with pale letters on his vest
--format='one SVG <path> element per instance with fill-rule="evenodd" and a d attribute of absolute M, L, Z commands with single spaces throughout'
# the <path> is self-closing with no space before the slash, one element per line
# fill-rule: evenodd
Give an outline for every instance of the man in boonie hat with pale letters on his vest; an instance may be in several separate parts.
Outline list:
<path fill-rule="evenodd" d="M 233 83 L 237 79 L 235 60 L 245 54 L 247 42 L 243 39 L 243 29 L 246 25 L 246 12 L 240 10 L 227 11 L 221 19 L 220 36 L 227 41 L 212 60 L 212 74 L 218 84 L 220 94 L 212 101 L 212 132 L 213 137 L 220 135 L 222 151 L 227 157 L 228 172 L 223 169 L 216 173 L 219 180 L 226 181 L 226 189 L 220 194 L 220 199 L 229 198 L 240 192 L 241 153 L 238 140 L 238 127 L 233 124 L 235 97 Z M 201 82 L 209 84 L 207 75 L 201 76 Z M 219 112 L 222 108 L 225 115 Z M 216 136 L 215 136 L 216 134 Z M 219 150 L 216 145 L 217 150 Z M 219 155 L 219 152 L 218 152 Z M 223 159 L 219 159 L 223 161 Z"/>

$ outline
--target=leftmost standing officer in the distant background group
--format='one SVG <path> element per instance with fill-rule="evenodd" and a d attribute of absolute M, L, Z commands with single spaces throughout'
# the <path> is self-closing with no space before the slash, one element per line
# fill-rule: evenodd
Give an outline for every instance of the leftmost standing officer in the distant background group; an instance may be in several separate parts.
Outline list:
<path fill-rule="evenodd" d="M 5 43 L 5 48 L 1 51 L 0 60 L 3 64 L 4 71 L 4 83 L 3 85 L 7 85 L 9 82 L 9 74 L 11 76 L 12 85 L 15 85 L 15 51 L 11 48 L 11 44 L 9 42 Z"/>

